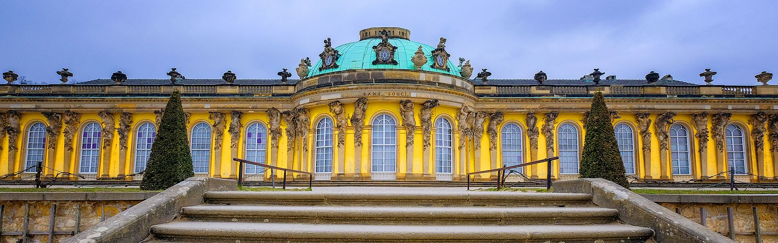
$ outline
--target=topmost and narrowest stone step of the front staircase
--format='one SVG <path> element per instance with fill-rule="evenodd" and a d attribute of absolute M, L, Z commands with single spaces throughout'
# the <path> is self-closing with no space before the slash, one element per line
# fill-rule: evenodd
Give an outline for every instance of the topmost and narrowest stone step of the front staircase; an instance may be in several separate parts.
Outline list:
<path fill-rule="evenodd" d="M 205 192 L 205 203 L 377 206 L 590 206 L 591 195 L 541 192 Z"/>

